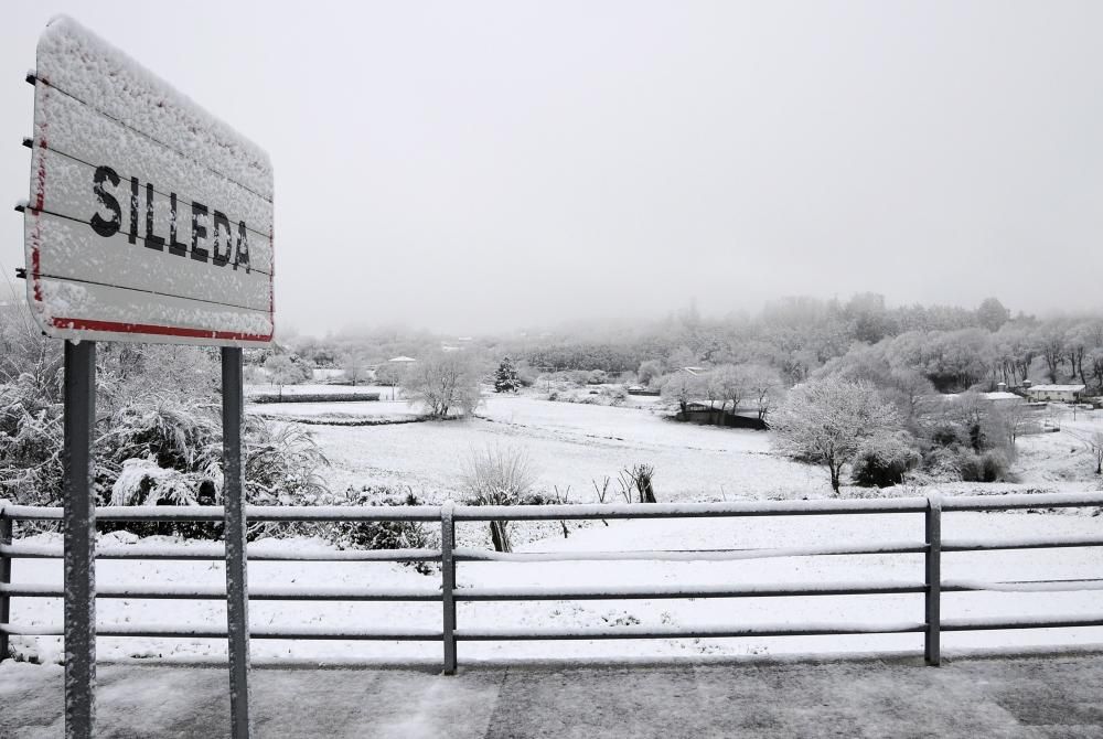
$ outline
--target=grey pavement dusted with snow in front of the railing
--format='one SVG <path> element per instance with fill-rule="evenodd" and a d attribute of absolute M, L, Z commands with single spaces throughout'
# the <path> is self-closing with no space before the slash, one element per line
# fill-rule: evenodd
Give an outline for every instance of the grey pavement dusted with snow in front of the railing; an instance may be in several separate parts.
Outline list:
<path fill-rule="evenodd" d="M 0 664 L 0 737 L 62 736 L 57 666 Z M 226 736 L 226 674 L 101 666 L 99 737 Z M 1100 737 L 1103 655 L 722 666 L 256 670 L 255 736 Z"/>

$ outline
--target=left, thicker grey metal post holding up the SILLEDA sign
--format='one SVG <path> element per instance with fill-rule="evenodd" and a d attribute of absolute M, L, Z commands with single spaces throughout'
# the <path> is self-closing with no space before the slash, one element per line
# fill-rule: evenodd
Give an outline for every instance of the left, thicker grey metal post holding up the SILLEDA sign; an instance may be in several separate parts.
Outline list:
<path fill-rule="evenodd" d="M 65 737 L 90 739 L 96 719 L 96 500 L 92 429 L 96 344 L 65 342 Z"/>

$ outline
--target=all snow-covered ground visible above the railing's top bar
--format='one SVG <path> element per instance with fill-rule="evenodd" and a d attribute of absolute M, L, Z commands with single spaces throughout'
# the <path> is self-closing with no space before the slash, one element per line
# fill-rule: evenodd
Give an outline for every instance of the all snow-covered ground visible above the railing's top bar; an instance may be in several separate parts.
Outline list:
<path fill-rule="evenodd" d="M 349 406 L 355 406 L 350 408 Z M 275 408 L 275 410 L 272 410 Z M 372 414 L 415 415 L 404 403 L 276 404 L 255 411 L 285 418 L 335 419 Z M 301 410 L 300 410 L 301 409 Z M 1063 419 L 1062 419 L 1063 420 Z M 1069 424 L 1071 425 L 1071 422 Z M 1103 411 L 1078 413 L 1077 428 L 1103 430 Z M 638 463 L 655 468 L 661 501 L 825 497 L 831 491 L 823 468 L 800 464 L 775 454 L 770 435 L 760 431 L 678 424 L 654 403 L 643 407 L 608 407 L 552 403 L 526 396 L 491 395 L 476 417 L 406 426 L 311 426 L 333 467 L 323 474 L 331 488 L 409 485 L 422 499 L 437 502 L 459 493 L 458 479 L 467 459 L 488 446 L 525 450 L 538 475 L 538 486 L 570 488 L 571 502 L 596 500 L 593 482 L 611 479 Z M 1020 437 L 1013 471 L 1017 483 L 941 485 L 946 492 L 1073 492 L 1099 490 L 1091 453 L 1068 432 Z M 886 491 L 888 495 L 922 495 L 924 488 Z M 852 489 L 848 494 L 879 494 Z"/>

